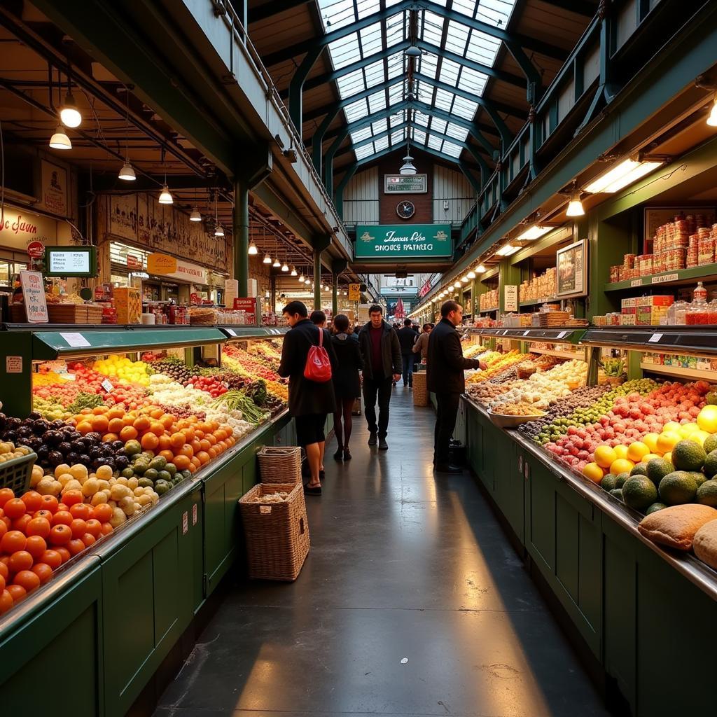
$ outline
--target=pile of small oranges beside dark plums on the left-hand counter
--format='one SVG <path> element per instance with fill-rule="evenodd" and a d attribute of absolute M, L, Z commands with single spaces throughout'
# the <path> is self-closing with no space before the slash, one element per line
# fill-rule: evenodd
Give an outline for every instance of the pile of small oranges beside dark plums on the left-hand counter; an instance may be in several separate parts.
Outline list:
<path fill-rule="evenodd" d="M 200 421 L 196 416 L 178 419 L 155 406 L 132 411 L 99 406 L 83 409 L 69 422 L 82 435 L 97 432 L 105 442 L 121 440 L 127 445 L 139 441 L 142 450 L 161 455 L 178 470 L 193 473 L 236 443 L 234 431 L 227 424 Z"/>

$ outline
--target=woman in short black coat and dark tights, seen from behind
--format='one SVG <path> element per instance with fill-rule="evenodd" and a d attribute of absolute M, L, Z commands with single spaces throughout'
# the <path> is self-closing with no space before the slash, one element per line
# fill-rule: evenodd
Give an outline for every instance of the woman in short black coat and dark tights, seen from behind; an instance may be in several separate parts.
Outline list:
<path fill-rule="evenodd" d="M 359 371 L 363 371 L 364 361 L 361 360 L 359 341 L 348 333 L 348 316 L 338 314 L 333 320 L 333 329 L 331 345 L 338 361 L 338 368 L 333 374 L 333 392 L 336 395 L 333 430 L 338 447 L 333 457 L 335 460 L 351 460 L 351 451 L 348 450 L 353 427 L 351 412 L 353 402 L 361 396 Z"/>

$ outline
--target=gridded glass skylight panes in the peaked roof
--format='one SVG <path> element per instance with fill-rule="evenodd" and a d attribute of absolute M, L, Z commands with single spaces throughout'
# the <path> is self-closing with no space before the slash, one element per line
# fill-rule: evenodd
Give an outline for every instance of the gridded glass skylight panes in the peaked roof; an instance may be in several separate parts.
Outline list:
<path fill-rule="evenodd" d="M 444 7 L 447 2 L 434 1 Z M 382 7 L 391 9 L 398 2 L 399 0 L 385 0 L 381 4 L 380 0 L 318 0 L 318 6 L 324 32 L 331 34 L 359 19 L 371 19 L 371 15 L 379 12 Z M 515 2 L 516 0 L 452 0 L 451 8 L 462 16 L 505 28 Z M 435 12 L 419 10 L 417 37 L 436 47 L 437 51 L 424 51 L 421 57 L 417 58 L 414 72 L 418 76 L 414 77 L 412 91 L 419 103 L 434 108 L 436 114 L 424 113 L 420 106 L 418 110 L 414 109 L 409 113 L 406 108 L 398 106 L 409 94 L 406 75 L 408 61 L 404 56 L 404 49 L 397 49 L 385 58 L 379 57 L 382 52 L 390 52 L 392 47 L 409 39 L 409 18 L 408 11 L 397 11 L 386 19 L 373 22 L 328 44 L 334 70 L 343 70 L 353 63 L 376 56 L 374 62 L 336 78 L 336 87 L 342 100 L 350 100 L 362 92 L 367 95 L 350 101 L 343 108 L 346 123 L 360 122 L 369 115 L 379 113 L 370 124 L 350 133 L 354 145 L 366 141 L 366 144 L 356 147 L 357 160 L 370 158 L 376 153 L 404 144 L 409 114 L 412 143 L 458 158 L 463 151 L 460 143 L 467 141 L 468 130 L 461 120 L 473 120 L 478 104 L 468 97 L 456 95 L 450 88 L 457 87 L 463 93 L 480 97 L 485 90 L 488 76 L 448 59 L 445 53 L 466 57 L 492 67 L 500 40 L 471 29 L 460 19 L 448 20 Z M 436 87 L 421 77 L 435 80 L 444 87 Z M 394 80 L 387 90 L 381 89 L 368 94 L 371 88 Z M 392 108 L 398 111 L 385 116 Z M 374 141 L 368 142 L 374 137 Z M 455 142 L 446 137 L 454 139 Z"/>

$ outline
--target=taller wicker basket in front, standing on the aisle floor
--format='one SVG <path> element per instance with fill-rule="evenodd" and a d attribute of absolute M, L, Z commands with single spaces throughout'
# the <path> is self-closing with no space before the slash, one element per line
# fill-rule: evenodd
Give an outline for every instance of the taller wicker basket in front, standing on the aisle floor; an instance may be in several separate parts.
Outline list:
<path fill-rule="evenodd" d="M 257 495 L 286 491 L 282 503 L 255 503 Z M 247 541 L 249 576 L 254 580 L 298 578 L 309 551 L 309 524 L 301 484 L 259 483 L 239 498 Z"/>

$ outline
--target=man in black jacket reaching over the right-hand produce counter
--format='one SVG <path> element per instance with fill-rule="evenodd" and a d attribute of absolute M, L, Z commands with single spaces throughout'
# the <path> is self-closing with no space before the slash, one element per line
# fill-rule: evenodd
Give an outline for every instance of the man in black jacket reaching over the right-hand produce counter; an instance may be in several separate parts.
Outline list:
<path fill-rule="evenodd" d="M 442 473 L 462 473 L 449 465 L 448 447 L 455 428 L 460 394 L 465 391 L 465 369 L 483 369 L 478 359 L 464 359 L 460 336 L 455 327 L 463 319 L 463 308 L 455 301 L 441 307 L 441 320 L 428 338 L 427 386 L 436 394 L 437 412 L 433 444 L 433 464 Z"/>

